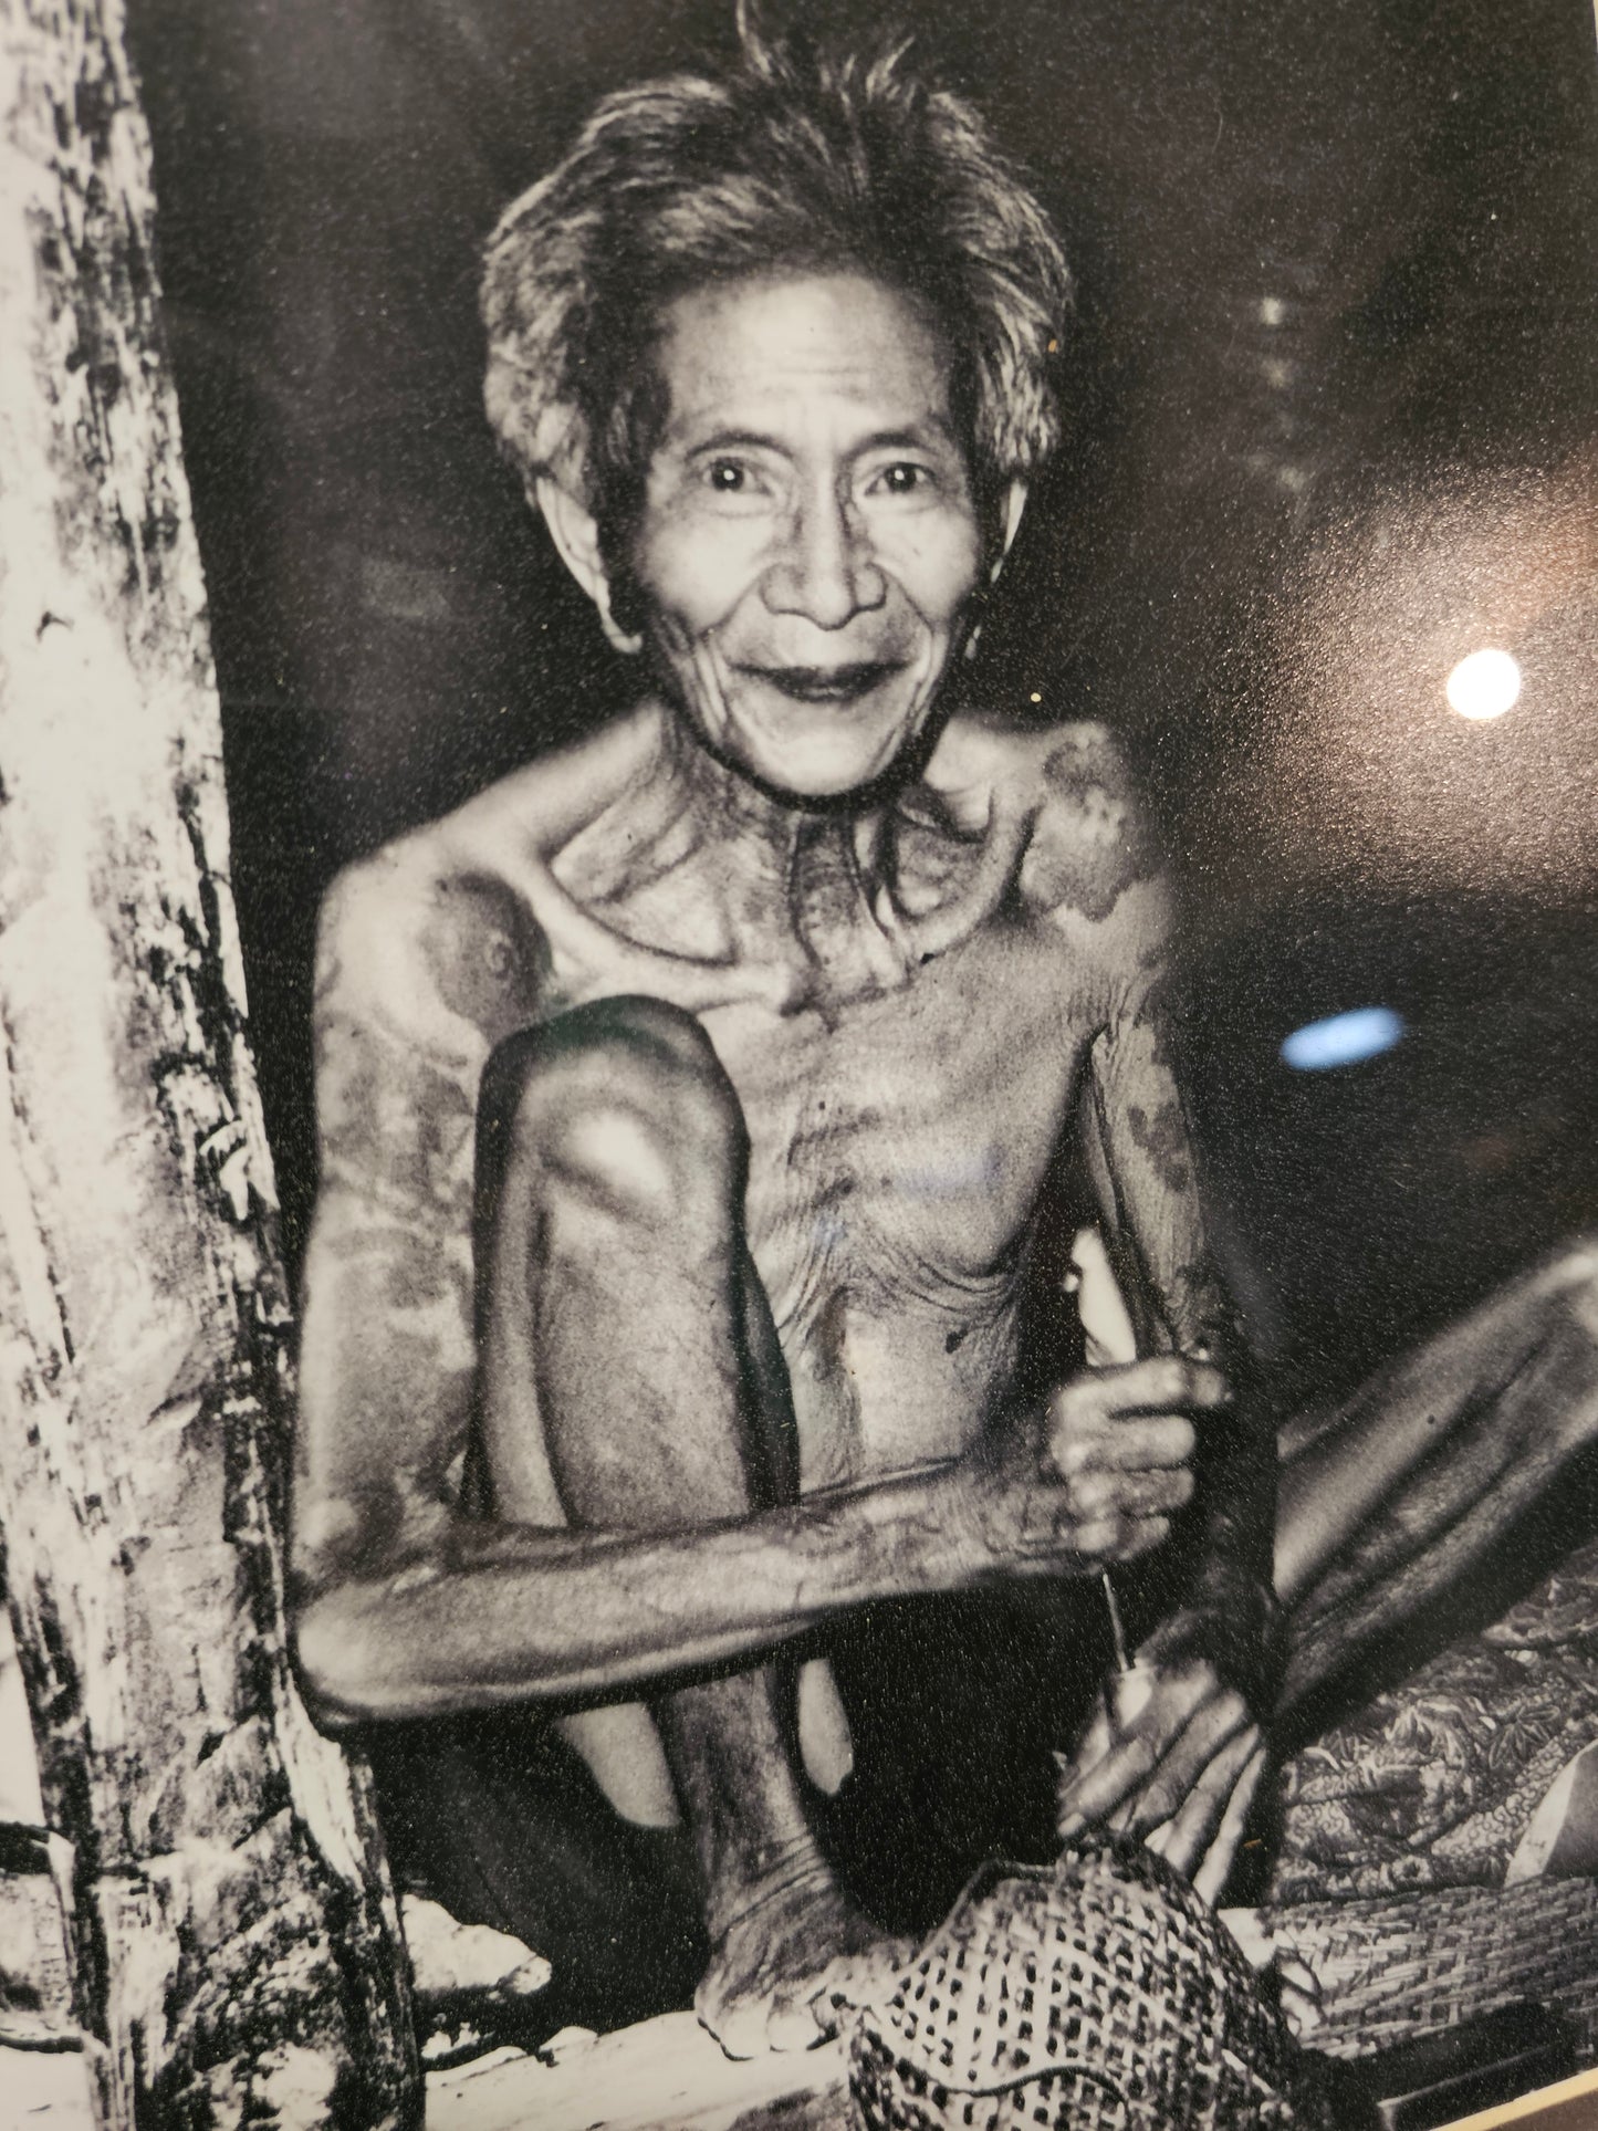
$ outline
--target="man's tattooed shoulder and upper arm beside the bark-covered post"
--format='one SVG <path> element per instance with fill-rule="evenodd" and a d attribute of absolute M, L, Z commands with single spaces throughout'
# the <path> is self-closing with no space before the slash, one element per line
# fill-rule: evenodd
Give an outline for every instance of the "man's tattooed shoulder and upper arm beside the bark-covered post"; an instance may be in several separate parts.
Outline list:
<path fill-rule="evenodd" d="M 307 1590 L 428 1560 L 460 1500 L 477 1083 L 539 999 L 539 938 L 509 889 L 428 865 L 418 844 L 343 874 L 320 936 L 296 1468 Z"/>

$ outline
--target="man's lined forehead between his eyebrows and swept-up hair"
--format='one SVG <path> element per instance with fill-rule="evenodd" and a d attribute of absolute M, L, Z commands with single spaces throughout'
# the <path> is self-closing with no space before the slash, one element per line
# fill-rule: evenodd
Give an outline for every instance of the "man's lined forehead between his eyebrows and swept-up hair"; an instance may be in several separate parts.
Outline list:
<path fill-rule="evenodd" d="M 955 354 L 931 305 L 859 269 L 701 283 L 661 311 L 656 445 L 829 422 L 965 450 Z"/>

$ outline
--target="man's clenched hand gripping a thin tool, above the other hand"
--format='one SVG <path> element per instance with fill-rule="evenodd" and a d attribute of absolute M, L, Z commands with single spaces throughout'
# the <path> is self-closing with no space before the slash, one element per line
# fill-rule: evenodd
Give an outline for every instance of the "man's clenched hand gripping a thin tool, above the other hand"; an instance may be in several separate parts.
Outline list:
<path fill-rule="evenodd" d="M 1193 1494 L 1187 1415 L 1227 1396 L 1219 1370 L 1159 1355 L 1074 1377 L 995 1428 L 940 1483 L 969 1581 L 1091 1575 L 1157 1547 Z"/>

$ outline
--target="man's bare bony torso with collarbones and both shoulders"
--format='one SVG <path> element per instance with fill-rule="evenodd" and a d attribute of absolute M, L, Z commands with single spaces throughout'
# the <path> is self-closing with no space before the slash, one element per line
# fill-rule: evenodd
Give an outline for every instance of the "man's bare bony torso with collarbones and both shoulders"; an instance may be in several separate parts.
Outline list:
<path fill-rule="evenodd" d="M 1163 914 L 1116 757 L 1087 727 L 950 729 L 867 852 L 891 880 L 874 912 L 846 818 L 763 872 L 737 820 L 705 833 L 663 803 L 661 729 L 637 712 L 390 846 L 381 938 L 335 982 L 437 1059 L 460 1272 L 492 1044 L 616 993 L 697 1012 L 748 1125 L 803 1487 L 955 1455 L 1010 1387 L 1044 1176 Z M 1151 1085 L 1155 1157 L 1161 1104 Z M 1185 1193 L 1180 1161 L 1163 1183 Z"/>

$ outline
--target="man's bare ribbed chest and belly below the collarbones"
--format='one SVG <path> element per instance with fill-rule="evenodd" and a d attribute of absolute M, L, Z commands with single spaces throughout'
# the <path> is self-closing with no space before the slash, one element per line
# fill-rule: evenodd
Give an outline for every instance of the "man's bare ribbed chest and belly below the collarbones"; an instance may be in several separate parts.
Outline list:
<path fill-rule="evenodd" d="M 1087 1031 L 1061 1012 L 1059 944 L 993 931 L 835 1027 L 705 1016 L 750 1127 L 748 1236 L 805 1485 L 952 1455 L 1008 1389 Z"/>

